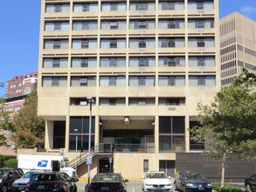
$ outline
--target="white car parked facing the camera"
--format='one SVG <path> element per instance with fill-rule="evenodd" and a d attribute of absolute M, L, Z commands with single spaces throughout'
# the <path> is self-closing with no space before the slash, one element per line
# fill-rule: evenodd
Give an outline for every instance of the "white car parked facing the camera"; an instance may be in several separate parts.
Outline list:
<path fill-rule="evenodd" d="M 172 191 L 170 178 L 163 171 L 148 171 L 142 177 L 142 191 Z"/>

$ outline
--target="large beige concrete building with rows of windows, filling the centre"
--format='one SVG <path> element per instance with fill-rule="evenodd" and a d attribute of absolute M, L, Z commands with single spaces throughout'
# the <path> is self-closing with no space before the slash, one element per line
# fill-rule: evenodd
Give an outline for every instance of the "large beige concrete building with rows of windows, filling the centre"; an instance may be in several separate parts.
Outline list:
<path fill-rule="evenodd" d="M 204 150 L 187 128 L 220 88 L 218 0 L 42 0 L 41 11 L 48 153 L 79 155 L 81 177 L 140 179 L 173 176 L 176 152 Z"/>

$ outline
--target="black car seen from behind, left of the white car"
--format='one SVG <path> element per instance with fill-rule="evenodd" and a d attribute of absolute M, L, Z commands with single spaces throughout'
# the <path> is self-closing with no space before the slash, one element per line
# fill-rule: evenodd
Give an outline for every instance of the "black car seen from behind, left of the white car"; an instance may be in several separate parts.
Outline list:
<path fill-rule="evenodd" d="M 93 176 L 92 181 L 87 186 L 88 192 L 111 191 L 126 192 L 128 180 L 124 180 L 121 174 L 100 173 Z"/>

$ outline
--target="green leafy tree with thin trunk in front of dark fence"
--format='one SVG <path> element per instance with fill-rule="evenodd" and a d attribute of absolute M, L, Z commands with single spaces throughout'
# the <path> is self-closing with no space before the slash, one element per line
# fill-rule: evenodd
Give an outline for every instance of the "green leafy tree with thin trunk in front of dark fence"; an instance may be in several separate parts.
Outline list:
<path fill-rule="evenodd" d="M 221 187 L 225 161 L 235 153 L 249 157 L 256 152 L 255 82 L 255 75 L 244 70 L 217 93 L 211 106 L 197 105 L 200 126 L 189 128 L 190 139 L 204 142 L 206 154 L 221 161 Z"/>

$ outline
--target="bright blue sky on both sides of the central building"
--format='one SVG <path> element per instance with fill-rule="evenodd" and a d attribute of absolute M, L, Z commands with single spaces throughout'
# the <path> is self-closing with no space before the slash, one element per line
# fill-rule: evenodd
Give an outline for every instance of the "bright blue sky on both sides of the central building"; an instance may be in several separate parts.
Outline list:
<path fill-rule="evenodd" d="M 0 5 L 0 97 L 6 82 L 38 71 L 40 0 L 5 0 Z M 219 17 L 237 11 L 256 21 L 256 0 L 219 0 Z"/>

